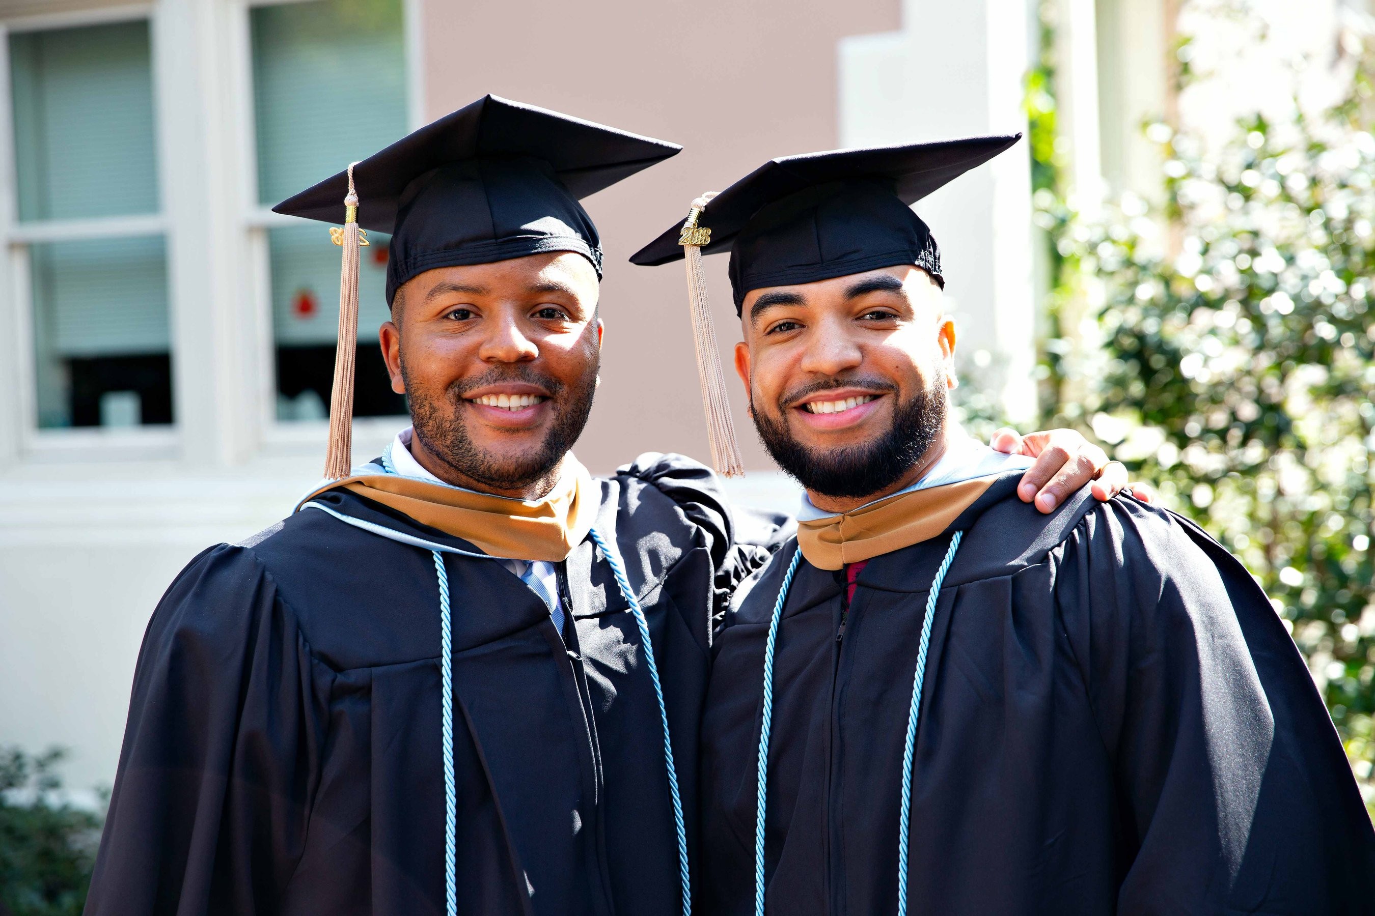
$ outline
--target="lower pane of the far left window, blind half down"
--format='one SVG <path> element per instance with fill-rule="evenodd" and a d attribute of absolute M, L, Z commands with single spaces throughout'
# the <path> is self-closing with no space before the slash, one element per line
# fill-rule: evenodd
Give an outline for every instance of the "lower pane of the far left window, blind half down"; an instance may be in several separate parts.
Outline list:
<path fill-rule="evenodd" d="M 38 426 L 172 422 L 161 236 L 29 249 Z"/>

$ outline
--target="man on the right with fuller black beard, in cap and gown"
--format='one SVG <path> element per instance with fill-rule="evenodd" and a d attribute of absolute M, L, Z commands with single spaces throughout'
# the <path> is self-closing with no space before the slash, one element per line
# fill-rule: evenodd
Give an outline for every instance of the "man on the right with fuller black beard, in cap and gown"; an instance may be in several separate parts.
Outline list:
<path fill-rule="evenodd" d="M 1265 593 L 1191 522 L 1041 515 L 952 422 L 909 209 L 1016 141 L 774 159 L 700 201 L 736 368 L 806 488 L 703 720 L 703 912 L 1371 913 L 1375 834 Z"/>

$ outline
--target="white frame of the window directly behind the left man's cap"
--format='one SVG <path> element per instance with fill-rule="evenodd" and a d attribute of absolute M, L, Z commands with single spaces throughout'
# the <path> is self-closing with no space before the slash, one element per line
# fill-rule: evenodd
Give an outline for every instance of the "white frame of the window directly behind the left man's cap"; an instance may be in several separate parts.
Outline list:
<path fill-rule="evenodd" d="M 238 62 L 235 96 L 242 100 L 239 110 L 241 159 L 245 168 L 241 173 L 239 192 L 242 195 L 243 228 L 248 238 L 249 262 L 252 265 L 253 313 L 257 328 L 256 346 L 258 352 L 258 374 L 254 389 L 257 396 L 257 422 L 263 430 L 261 446 L 265 455 L 298 456 L 319 452 L 329 434 L 329 419 L 323 420 L 279 420 L 276 417 L 276 369 L 275 339 L 272 334 L 272 272 L 268 253 L 268 229 L 279 227 L 305 225 L 297 217 L 272 213 L 257 198 L 257 118 L 253 108 L 253 43 L 249 12 L 256 7 L 282 5 L 286 3 L 308 3 L 309 0 L 235 0 L 241 12 L 238 21 Z M 402 0 L 402 30 L 406 54 L 406 119 L 414 129 L 425 124 L 425 102 L 422 98 L 424 73 L 421 69 L 424 32 L 421 29 L 421 0 Z M 400 139 L 400 137 L 397 137 Z M 320 224 L 320 239 L 324 227 Z M 396 434 L 400 423 L 396 416 L 364 416 L 353 419 L 353 438 L 359 446 L 388 441 Z"/>

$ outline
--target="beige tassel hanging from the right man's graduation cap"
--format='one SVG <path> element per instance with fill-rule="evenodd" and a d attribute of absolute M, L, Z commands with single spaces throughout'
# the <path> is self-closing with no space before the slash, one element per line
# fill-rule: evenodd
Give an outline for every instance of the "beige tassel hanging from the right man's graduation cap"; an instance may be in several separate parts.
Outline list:
<path fill-rule="evenodd" d="M 701 246 L 711 242 L 711 229 L 697 225 L 707 202 L 716 196 L 710 191 L 692 202 L 678 244 L 683 246 L 688 264 L 688 299 L 692 304 L 693 343 L 697 346 L 697 378 L 701 400 L 707 408 L 707 441 L 711 444 L 711 463 L 722 477 L 741 477 L 745 472 L 736 441 L 736 424 L 730 419 L 730 398 L 726 379 L 716 354 L 716 325 L 711 320 L 707 302 L 707 277 L 701 271 Z"/>

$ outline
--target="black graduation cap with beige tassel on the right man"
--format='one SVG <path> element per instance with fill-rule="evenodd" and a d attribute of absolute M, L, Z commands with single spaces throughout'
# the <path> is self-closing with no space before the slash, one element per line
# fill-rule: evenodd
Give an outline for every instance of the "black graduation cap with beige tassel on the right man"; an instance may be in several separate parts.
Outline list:
<path fill-rule="evenodd" d="M 716 358 L 701 255 L 730 251 L 736 314 L 751 290 L 814 283 L 903 264 L 945 286 L 940 251 L 912 205 L 983 165 L 1018 135 L 836 150 L 770 159 L 719 194 L 693 201 L 631 264 L 685 258 L 712 460 L 740 472 L 740 452 Z"/>

